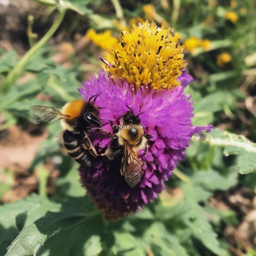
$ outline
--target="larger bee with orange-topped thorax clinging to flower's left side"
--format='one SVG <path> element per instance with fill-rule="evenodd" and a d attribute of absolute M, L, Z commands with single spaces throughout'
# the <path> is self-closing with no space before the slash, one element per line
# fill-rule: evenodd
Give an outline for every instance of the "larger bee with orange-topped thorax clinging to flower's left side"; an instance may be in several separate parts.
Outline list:
<path fill-rule="evenodd" d="M 61 111 L 55 107 L 32 106 L 30 111 L 35 113 L 43 122 L 61 122 L 62 138 L 68 154 L 79 164 L 91 166 L 93 157 L 98 157 L 89 134 L 91 130 L 105 133 L 99 119 L 99 108 L 94 105 L 99 94 L 88 101 L 76 99 L 66 103 Z M 94 101 L 91 100 L 94 98 Z"/>

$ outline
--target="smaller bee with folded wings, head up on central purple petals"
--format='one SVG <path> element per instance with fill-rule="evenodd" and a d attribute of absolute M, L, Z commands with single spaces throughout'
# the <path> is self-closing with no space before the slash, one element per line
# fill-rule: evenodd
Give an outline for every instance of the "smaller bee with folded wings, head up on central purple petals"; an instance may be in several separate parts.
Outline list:
<path fill-rule="evenodd" d="M 144 149 L 143 155 L 148 153 L 148 139 L 152 136 L 144 134 L 139 115 L 136 116 L 131 108 L 128 108 L 130 111 L 122 116 L 121 128 L 111 137 L 110 147 L 102 155 L 107 156 L 109 160 L 122 158 L 121 175 L 124 175 L 126 182 L 134 187 L 144 173 L 142 168 L 144 163 L 138 151 Z"/>

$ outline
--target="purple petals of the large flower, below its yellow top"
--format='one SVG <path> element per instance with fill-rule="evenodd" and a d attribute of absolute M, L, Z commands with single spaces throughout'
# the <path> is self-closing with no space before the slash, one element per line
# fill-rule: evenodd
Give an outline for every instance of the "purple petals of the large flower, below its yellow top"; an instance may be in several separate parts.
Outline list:
<path fill-rule="evenodd" d="M 140 87 L 136 91 L 133 85 L 119 78 L 113 80 L 101 70 L 79 88 L 86 100 L 100 93 L 95 104 L 100 108 L 99 117 L 105 131 L 113 134 L 111 125 L 120 124 L 122 115 L 129 111 L 128 105 L 134 114 L 141 113 L 145 134 L 152 135 L 148 154 L 141 156 L 144 174 L 135 187 L 130 187 L 120 174 L 120 161 L 99 156 L 93 166 L 80 167 L 81 182 L 106 220 L 137 212 L 156 198 L 178 160 L 184 159 L 192 135 L 208 127 L 192 126 L 192 102 L 183 90 L 193 78 L 183 72 L 179 80 L 181 86 L 172 90 Z M 92 134 L 91 140 L 100 153 L 110 146 L 110 138 L 105 134 Z"/>

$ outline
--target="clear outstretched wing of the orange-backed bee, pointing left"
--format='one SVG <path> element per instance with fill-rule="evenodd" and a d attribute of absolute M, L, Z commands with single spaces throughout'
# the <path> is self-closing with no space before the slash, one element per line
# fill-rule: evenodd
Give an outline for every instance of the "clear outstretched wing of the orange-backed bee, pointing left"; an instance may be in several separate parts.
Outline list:
<path fill-rule="evenodd" d="M 41 121 L 51 123 L 64 117 L 70 117 L 62 114 L 55 107 L 46 106 L 32 106 L 29 109 L 32 113 L 35 113 Z"/>

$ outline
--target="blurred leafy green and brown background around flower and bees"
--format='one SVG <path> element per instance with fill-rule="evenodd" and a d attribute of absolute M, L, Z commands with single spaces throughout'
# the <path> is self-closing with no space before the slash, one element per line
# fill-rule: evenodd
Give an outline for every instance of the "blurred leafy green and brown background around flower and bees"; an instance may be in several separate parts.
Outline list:
<path fill-rule="evenodd" d="M 0 255 L 256 255 L 255 3 L 6 3 L 0 2 Z M 61 12 L 64 20 L 47 44 L 13 73 Z M 137 17 L 167 22 L 181 34 L 195 78 L 186 91 L 193 123 L 220 130 L 193 138 L 158 200 L 137 215 L 105 222 L 81 188 L 78 165 L 61 143 L 52 143 L 59 123 L 33 124 L 29 107 L 61 107 L 78 98 L 77 87 L 99 70 L 105 54 L 85 33 L 93 28 L 118 37 Z M 186 41 L 191 37 L 197 40 Z M 198 40 L 210 40 L 209 47 L 190 49 Z M 220 66 L 221 53 L 231 60 Z"/>

